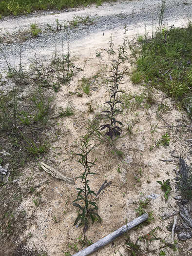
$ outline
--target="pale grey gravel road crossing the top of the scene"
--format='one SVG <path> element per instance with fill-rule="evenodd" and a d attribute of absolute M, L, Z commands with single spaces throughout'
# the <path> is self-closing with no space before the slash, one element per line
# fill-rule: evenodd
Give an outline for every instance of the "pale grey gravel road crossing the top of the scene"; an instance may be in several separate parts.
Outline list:
<path fill-rule="evenodd" d="M 1 50 L 12 65 L 19 63 L 19 45 L 21 45 L 22 62 L 29 66 L 30 58 L 37 53 L 41 59 L 48 59 L 55 49 L 67 40 L 66 32 L 56 33 L 56 19 L 59 23 L 73 20 L 74 15 L 89 16 L 95 19 L 94 24 L 78 24 L 70 29 L 70 50 L 72 54 L 87 55 L 88 51 L 98 47 L 107 48 L 110 35 L 113 32 L 118 41 L 123 36 L 123 26 L 128 27 L 130 39 L 138 33 L 152 34 L 158 23 L 158 10 L 161 0 L 124 0 L 113 3 L 103 3 L 102 6 L 92 5 L 86 8 L 69 9 L 54 13 L 53 11 L 36 12 L 28 17 L 5 17 L 0 20 Z M 192 0 L 167 0 L 164 21 L 166 27 L 185 25 L 192 17 Z M 20 35 L 30 30 L 30 24 L 36 23 L 41 33 L 36 38 L 21 42 Z M 51 25 L 54 31 L 47 29 Z M 29 33 L 29 32 L 28 32 Z M 9 40 L 7 40 L 9 39 Z M 0 69 L 6 70 L 3 55 L 0 53 Z"/>

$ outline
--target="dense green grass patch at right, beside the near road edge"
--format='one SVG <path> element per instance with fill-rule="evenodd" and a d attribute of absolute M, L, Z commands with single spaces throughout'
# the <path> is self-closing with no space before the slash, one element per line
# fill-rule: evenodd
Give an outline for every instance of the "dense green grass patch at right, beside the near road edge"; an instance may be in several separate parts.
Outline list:
<path fill-rule="evenodd" d="M 192 23 L 186 28 L 162 29 L 153 39 L 144 39 L 136 59 L 137 73 L 146 83 L 175 100 L 192 95 Z"/>

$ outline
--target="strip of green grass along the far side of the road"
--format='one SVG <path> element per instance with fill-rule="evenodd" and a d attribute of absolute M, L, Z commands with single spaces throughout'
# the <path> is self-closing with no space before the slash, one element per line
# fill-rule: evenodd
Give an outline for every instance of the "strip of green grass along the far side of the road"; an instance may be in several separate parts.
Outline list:
<path fill-rule="evenodd" d="M 115 0 L 114 0 L 115 1 Z M 77 6 L 86 7 L 88 4 L 96 3 L 101 5 L 102 0 L 2 0 L 0 1 L 0 15 L 29 14 L 37 10 L 56 9 L 60 11 L 64 8 Z"/>

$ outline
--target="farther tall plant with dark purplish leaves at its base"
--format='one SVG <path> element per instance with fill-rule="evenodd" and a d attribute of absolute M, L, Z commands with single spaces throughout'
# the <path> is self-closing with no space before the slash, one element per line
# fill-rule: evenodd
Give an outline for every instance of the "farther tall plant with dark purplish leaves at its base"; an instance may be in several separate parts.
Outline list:
<path fill-rule="evenodd" d="M 120 135 L 119 131 L 121 129 L 119 126 L 116 125 L 116 123 L 123 126 L 122 122 L 117 121 L 114 117 L 116 113 L 122 112 L 121 110 L 116 108 L 116 104 L 118 103 L 123 104 L 123 103 L 120 100 L 117 100 L 116 97 L 117 97 L 117 93 L 124 93 L 123 91 L 120 91 L 118 87 L 119 87 L 119 84 L 121 83 L 121 80 L 123 79 L 124 73 L 127 70 L 127 69 L 124 69 L 123 72 L 119 72 L 119 65 L 123 62 L 121 60 L 123 50 L 120 48 L 118 51 L 119 51 L 118 59 L 117 61 L 114 61 L 112 64 L 113 70 L 111 72 L 113 73 L 113 76 L 110 77 L 111 78 L 110 82 L 113 83 L 113 85 L 109 87 L 112 94 L 110 97 L 110 101 L 107 101 L 104 103 L 110 106 L 110 110 L 106 110 L 102 112 L 102 113 L 105 113 L 103 114 L 103 116 L 109 119 L 110 122 L 107 124 L 103 124 L 99 127 L 101 128 L 100 131 L 107 128 L 108 132 L 105 135 L 109 136 L 111 139 L 113 139 L 113 135 L 115 135 L 116 137 Z"/>

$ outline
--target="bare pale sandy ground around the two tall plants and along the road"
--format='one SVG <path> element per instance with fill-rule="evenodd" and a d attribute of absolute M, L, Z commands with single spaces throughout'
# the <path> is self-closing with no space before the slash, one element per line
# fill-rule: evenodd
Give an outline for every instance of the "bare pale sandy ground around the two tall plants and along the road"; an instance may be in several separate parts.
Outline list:
<path fill-rule="evenodd" d="M 72 20 L 74 14 L 79 16 L 113 16 L 114 14 L 126 13 L 132 15 L 133 10 L 137 15 L 143 15 L 147 17 L 147 13 L 156 12 L 159 0 L 155 1 L 118 1 L 113 4 L 102 4 L 102 6 L 91 6 L 87 8 L 79 8 L 77 10 L 70 10 L 69 12 L 63 12 L 58 14 L 35 14 L 29 17 L 16 17 L 6 18 L 0 21 L 1 35 L 5 36 L 7 33 L 10 35 L 18 33 L 19 30 L 29 29 L 30 23 L 38 23 L 39 27 L 43 27 L 45 23 L 49 22 L 54 24 L 55 19 L 59 20 Z M 190 15 L 191 4 L 182 5 L 183 1 L 168 1 L 168 7 L 166 10 L 170 10 L 169 7 L 174 7 L 178 4 L 178 12 L 173 16 L 170 14 L 169 19 L 165 20 L 165 26 L 169 27 L 185 25 L 188 18 L 186 13 Z M 190 1 L 188 1 L 190 2 Z M 179 8 L 181 7 L 182 8 Z M 175 7 L 176 8 L 176 7 Z M 179 13 L 179 10 L 181 13 Z M 186 11 L 186 13 L 185 13 Z M 147 24 L 146 24 L 147 23 Z M 127 24 L 128 38 L 134 39 L 138 34 L 144 33 L 152 34 L 152 20 L 146 18 L 146 21 L 132 22 Z M 52 121 L 51 125 L 59 134 L 59 140 L 56 140 L 51 145 L 49 154 L 44 156 L 41 160 L 48 165 L 53 166 L 58 171 L 62 172 L 68 177 L 75 179 L 81 172 L 82 168 L 76 161 L 75 153 L 79 153 L 80 136 L 85 135 L 86 126 L 88 126 L 88 119 L 93 120 L 97 113 L 100 113 L 104 109 L 104 103 L 109 99 L 108 85 L 106 79 L 109 76 L 112 60 L 115 56 L 110 56 L 107 53 L 109 47 L 110 35 L 113 32 L 115 51 L 119 45 L 123 43 L 123 25 L 126 24 L 126 20 L 122 19 L 122 26 L 118 28 L 99 28 L 99 31 L 92 31 L 91 25 L 89 28 L 89 35 L 83 34 L 79 39 L 78 37 L 73 41 L 70 41 L 71 56 L 74 58 L 75 65 L 79 65 L 83 68 L 83 71 L 74 78 L 71 85 L 62 86 L 61 90 L 57 93 L 55 104 L 57 107 L 66 107 L 71 104 L 75 108 L 75 116 L 73 118 L 60 118 L 57 120 L 57 124 Z M 80 33 L 80 32 L 78 32 Z M 104 33 L 104 35 L 103 35 Z M 35 41 L 33 41 L 35 42 Z M 15 44 L 4 44 L 2 46 L 5 51 L 10 50 L 12 47 L 15 49 L 18 47 Z M 34 48 L 25 48 L 22 51 L 22 61 L 29 66 L 29 59 L 35 52 L 39 53 L 41 59 L 45 62 L 50 59 L 55 47 L 54 41 L 46 47 L 42 42 L 37 39 Z M 43 50 L 42 50 L 43 49 Z M 58 45 L 58 51 L 61 47 Z M 96 53 L 101 53 L 101 57 L 96 57 Z M 128 56 L 131 52 L 128 50 Z M 8 60 L 11 63 L 17 63 L 18 59 L 11 58 L 8 55 Z M 1 59 L 0 66 L 5 68 L 4 60 Z M 129 66 L 131 70 L 130 61 L 125 61 L 124 66 Z M 94 76 L 99 74 L 94 81 Z M 85 76 L 86 78 L 93 78 L 93 84 L 91 86 L 90 95 L 83 94 L 82 98 L 77 98 L 77 94 L 69 94 L 69 91 L 77 93 L 82 92 L 80 87 L 80 79 Z M 133 95 L 141 94 L 146 88 L 139 85 L 133 85 L 129 79 L 129 76 L 125 76 L 121 89 L 126 91 L 128 95 L 131 92 Z M 192 122 L 187 118 L 186 113 L 180 112 L 175 108 L 172 100 L 164 98 L 164 94 L 158 91 L 153 91 L 154 105 L 153 109 L 146 114 L 144 109 L 144 103 L 141 106 L 137 106 L 132 110 L 124 109 L 122 115 L 119 115 L 119 120 L 124 122 L 125 129 L 122 131 L 122 135 L 126 134 L 127 122 L 130 118 L 138 119 L 138 123 L 135 124 L 133 134 L 131 136 L 126 135 L 123 138 L 117 140 L 115 147 L 124 153 L 124 161 L 122 162 L 114 153 L 112 148 L 107 148 L 105 145 L 97 147 L 91 158 L 95 156 L 98 158 L 97 166 L 93 168 L 93 172 L 98 174 L 97 177 L 90 178 L 91 187 L 98 191 L 102 183 L 112 181 L 112 185 L 107 187 L 102 194 L 98 196 L 96 201 L 98 204 L 98 214 L 102 218 L 102 222 L 97 222 L 92 226 L 90 223 L 89 229 L 86 232 L 86 236 L 89 240 L 96 242 L 100 238 L 110 234 L 119 227 L 123 226 L 127 221 L 131 221 L 137 217 L 135 209 L 138 208 L 139 198 L 146 198 L 150 194 L 158 194 L 156 199 L 150 199 L 150 204 L 147 207 L 147 212 L 153 211 L 154 220 L 149 225 L 143 225 L 139 228 L 135 228 L 129 233 L 132 240 L 135 241 L 139 236 L 144 236 L 152 229 L 159 226 L 160 229 L 156 231 L 155 235 L 161 237 L 166 242 L 171 242 L 171 232 L 167 230 L 167 226 L 173 222 L 173 217 L 163 221 L 161 216 L 165 213 L 170 213 L 173 210 L 177 210 L 177 205 L 173 197 L 175 196 L 174 180 L 175 171 L 178 169 L 178 159 L 172 158 L 171 154 L 175 156 L 183 156 L 188 164 L 192 162 L 192 157 L 189 156 L 188 151 L 190 143 L 187 142 L 190 139 L 191 131 L 182 131 L 181 129 L 176 133 L 173 129 L 157 128 L 156 132 L 151 133 L 151 124 L 157 123 L 158 126 L 166 126 L 165 122 L 161 119 L 157 120 L 155 113 L 157 111 L 158 104 L 164 102 L 168 106 L 168 110 L 163 114 L 163 118 L 170 124 L 187 124 L 192 125 Z M 92 106 L 93 113 L 88 113 L 88 107 Z M 162 135 L 168 133 L 171 142 L 169 146 L 154 147 L 150 151 L 150 146 L 154 144 L 154 140 L 160 139 Z M 53 137 L 55 134 L 53 133 Z M 94 143 L 94 142 L 93 142 Z M 173 159 L 172 162 L 163 162 L 159 159 Z M 117 168 L 120 167 L 120 172 L 117 172 Z M 30 163 L 30 166 L 25 167 L 23 170 L 23 176 L 19 178 L 18 186 L 29 190 L 31 186 L 37 186 L 34 193 L 27 193 L 25 198 L 21 202 L 19 208 L 16 210 L 16 216 L 20 212 L 25 211 L 24 223 L 26 225 L 22 234 L 18 231 L 17 239 L 7 237 L 7 248 L 5 246 L 4 255 L 8 256 L 9 247 L 17 246 L 21 242 L 25 248 L 30 251 L 38 250 L 38 252 L 46 252 L 47 256 L 62 256 L 65 252 L 70 252 L 71 255 L 76 253 L 74 244 L 77 243 L 77 237 L 82 236 L 82 228 L 74 227 L 74 220 L 77 217 L 77 211 L 71 202 L 76 198 L 76 188 L 81 187 L 80 179 L 76 180 L 75 185 L 69 185 L 61 180 L 54 179 L 48 176 L 42 169 L 39 168 L 38 163 Z M 164 193 L 160 189 L 160 185 L 157 180 L 166 180 L 170 178 L 172 191 L 169 194 L 168 201 L 164 198 Z M 47 182 L 48 181 L 48 182 Z M 42 183 L 41 183 L 42 182 Z M 39 183 L 41 184 L 40 186 Z M 34 200 L 38 201 L 38 206 L 35 205 Z M 56 217 L 57 221 L 54 220 Z M 29 236 L 29 234 L 31 234 Z M 115 256 L 119 255 L 117 249 L 126 255 L 124 239 L 126 237 L 118 238 L 115 244 L 109 244 L 98 252 L 92 254 L 92 256 Z M 176 235 L 175 235 L 176 239 Z M 187 256 L 191 255 L 191 241 L 178 243 L 178 248 L 173 251 L 171 248 L 163 249 L 166 255 L 169 256 Z M 163 242 L 155 241 L 150 245 L 150 250 L 157 249 L 154 253 L 147 253 L 146 255 L 159 255 L 159 246 L 162 246 Z M 71 248 L 70 248 L 71 247 Z M 78 243 L 78 250 L 82 246 Z M 184 249 L 183 249 L 184 247 Z M 143 252 L 147 252 L 146 244 L 142 244 Z M 179 250 L 178 250 L 179 249 Z M 26 254 L 27 255 L 27 254 Z"/>

